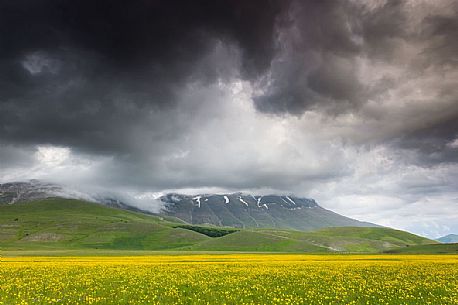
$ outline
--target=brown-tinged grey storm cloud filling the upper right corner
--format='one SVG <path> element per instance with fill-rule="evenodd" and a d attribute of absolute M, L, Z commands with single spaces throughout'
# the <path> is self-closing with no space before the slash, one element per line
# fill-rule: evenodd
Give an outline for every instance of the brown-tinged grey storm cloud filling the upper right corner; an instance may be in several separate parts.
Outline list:
<path fill-rule="evenodd" d="M 280 51 L 254 97 L 256 108 L 362 115 L 398 125 L 383 141 L 415 150 L 419 163 L 456 161 L 447 143 L 458 134 L 458 6 L 437 5 L 293 2 Z M 380 106 L 389 100 L 392 106 Z M 403 103 L 409 105 L 396 109 Z"/>

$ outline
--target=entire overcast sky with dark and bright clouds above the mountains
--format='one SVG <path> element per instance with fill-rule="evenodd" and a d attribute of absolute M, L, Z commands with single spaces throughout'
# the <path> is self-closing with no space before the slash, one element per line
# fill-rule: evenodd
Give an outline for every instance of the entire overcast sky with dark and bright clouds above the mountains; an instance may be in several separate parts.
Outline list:
<path fill-rule="evenodd" d="M 0 0 L 0 182 L 458 233 L 457 37 L 456 0 Z"/>

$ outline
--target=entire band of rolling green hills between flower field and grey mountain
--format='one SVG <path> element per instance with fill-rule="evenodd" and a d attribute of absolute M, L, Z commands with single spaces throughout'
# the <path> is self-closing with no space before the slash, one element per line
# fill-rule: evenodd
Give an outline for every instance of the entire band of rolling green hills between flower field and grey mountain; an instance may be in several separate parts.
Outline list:
<path fill-rule="evenodd" d="M 185 225 L 71 199 L 0 205 L 4 250 L 186 250 L 381 252 L 432 240 L 389 228 L 338 227 L 312 232 Z"/>

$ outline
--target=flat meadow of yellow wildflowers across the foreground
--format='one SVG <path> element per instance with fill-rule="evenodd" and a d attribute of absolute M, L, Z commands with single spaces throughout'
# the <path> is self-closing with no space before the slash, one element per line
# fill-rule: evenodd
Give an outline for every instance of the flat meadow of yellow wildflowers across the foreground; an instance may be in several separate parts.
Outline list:
<path fill-rule="evenodd" d="M 458 304 L 458 256 L 10 257 L 0 304 Z"/>

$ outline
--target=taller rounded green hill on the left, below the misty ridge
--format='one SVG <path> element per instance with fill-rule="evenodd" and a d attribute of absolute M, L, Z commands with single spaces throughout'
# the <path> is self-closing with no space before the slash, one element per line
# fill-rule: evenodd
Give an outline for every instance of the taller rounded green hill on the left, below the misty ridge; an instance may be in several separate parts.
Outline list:
<path fill-rule="evenodd" d="M 175 225 L 94 203 L 47 199 L 0 206 L 0 247 L 166 250 L 210 238 Z"/>

